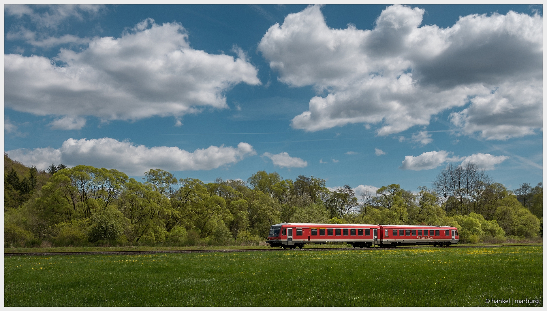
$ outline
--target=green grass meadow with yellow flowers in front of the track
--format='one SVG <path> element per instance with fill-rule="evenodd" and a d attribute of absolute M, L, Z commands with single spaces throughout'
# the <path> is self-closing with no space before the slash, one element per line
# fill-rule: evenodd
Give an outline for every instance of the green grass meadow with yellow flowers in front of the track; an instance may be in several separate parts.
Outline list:
<path fill-rule="evenodd" d="M 510 306 L 538 299 L 542 246 L 4 259 L 5 306 Z M 514 304 L 513 306 L 536 306 Z"/>

